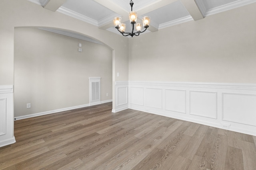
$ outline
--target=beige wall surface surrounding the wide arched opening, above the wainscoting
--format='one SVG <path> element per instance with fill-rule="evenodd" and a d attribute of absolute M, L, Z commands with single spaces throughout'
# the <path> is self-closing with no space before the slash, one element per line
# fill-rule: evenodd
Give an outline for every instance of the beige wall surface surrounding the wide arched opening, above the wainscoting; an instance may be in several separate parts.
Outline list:
<path fill-rule="evenodd" d="M 14 28 L 52 27 L 88 35 L 113 50 L 112 81 L 128 80 L 128 39 L 27 0 L 0 1 L 0 85 L 14 84 Z M 120 76 L 117 77 L 116 73 Z M 15 93 L 15 91 L 14 91 Z M 115 92 L 113 91 L 113 94 Z M 113 107 L 115 99 L 113 98 Z M 113 108 L 114 109 L 114 108 Z"/>

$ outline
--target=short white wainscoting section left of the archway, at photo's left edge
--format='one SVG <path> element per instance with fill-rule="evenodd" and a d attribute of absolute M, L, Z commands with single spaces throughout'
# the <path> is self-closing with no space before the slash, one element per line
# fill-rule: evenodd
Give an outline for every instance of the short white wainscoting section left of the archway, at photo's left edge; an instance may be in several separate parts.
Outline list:
<path fill-rule="evenodd" d="M 0 86 L 0 147 L 15 143 L 13 86 Z"/>

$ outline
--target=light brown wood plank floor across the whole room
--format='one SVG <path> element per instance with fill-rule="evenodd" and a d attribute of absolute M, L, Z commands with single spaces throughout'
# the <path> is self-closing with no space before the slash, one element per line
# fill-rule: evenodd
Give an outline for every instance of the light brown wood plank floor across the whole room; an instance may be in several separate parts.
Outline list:
<path fill-rule="evenodd" d="M 256 137 L 112 103 L 14 122 L 4 170 L 255 170 Z"/>

